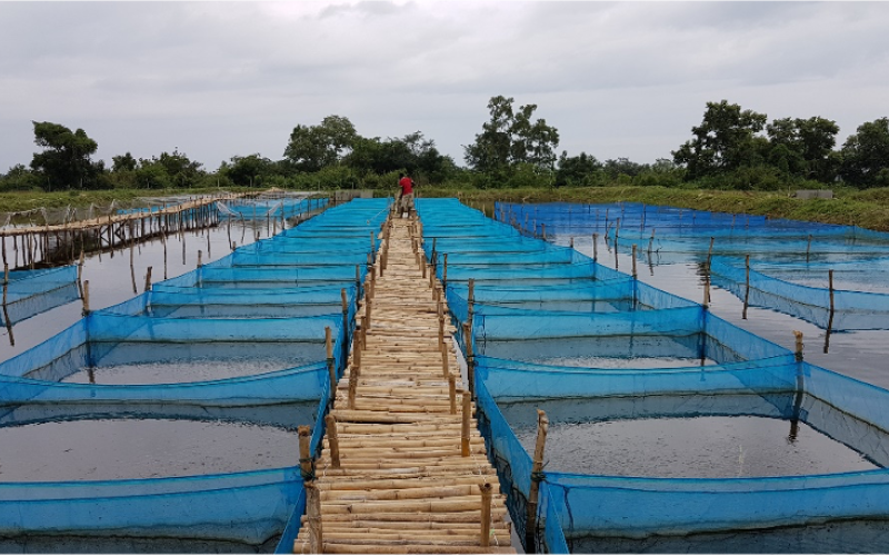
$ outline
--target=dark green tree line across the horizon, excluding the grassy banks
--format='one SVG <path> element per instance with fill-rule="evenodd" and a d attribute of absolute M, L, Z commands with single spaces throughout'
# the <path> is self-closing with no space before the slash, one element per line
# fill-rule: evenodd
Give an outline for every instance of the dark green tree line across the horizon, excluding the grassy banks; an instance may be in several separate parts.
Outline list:
<path fill-rule="evenodd" d="M 822 117 L 781 118 L 739 105 L 708 102 L 691 138 L 655 163 L 627 158 L 599 161 L 586 152 L 557 156 L 559 132 L 536 118 L 537 105 L 492 97 L 490 118 L 463 147 L 465 166 L 442 155 L 420 131 L 404 137 L 362 137 L 348 118 L 329 116 L 298 125 L 279 160 L 234 156 L 209 171 L 174 149 L 148 159 L 130 152 L 108 168 L 92 160 L 96 140 L 82 129 L 33 122 L 42 148 L 29 166 L 0 175 L 0 190 L 169 189 L 286 187 L 297 189 L 391 188 L 407 171 L 419 183 L 497 187 L 595 187 L 641 185 L 712 189 L 779 190 L 843 182 L 889 187 L 889 118 L 862 123 L 837 148 L 839 127 Z"/>

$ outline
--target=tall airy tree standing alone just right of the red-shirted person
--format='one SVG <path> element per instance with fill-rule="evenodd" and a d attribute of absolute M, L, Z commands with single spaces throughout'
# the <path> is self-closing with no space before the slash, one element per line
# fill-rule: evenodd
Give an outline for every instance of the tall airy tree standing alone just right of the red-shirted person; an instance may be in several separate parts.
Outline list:
<path fill-rule="evenodd" d="M 513 102 L 512 97 L 503 96 L 491 97 L 488 102 L 490 120 L 472 145 L 463 146 L 463 158 L 473 170 L 502 177 L 518 165 L 551 169 L 556 162 L 559 131 L 545 119 L 533 120 L 537 105 L 516 111 Z"/>

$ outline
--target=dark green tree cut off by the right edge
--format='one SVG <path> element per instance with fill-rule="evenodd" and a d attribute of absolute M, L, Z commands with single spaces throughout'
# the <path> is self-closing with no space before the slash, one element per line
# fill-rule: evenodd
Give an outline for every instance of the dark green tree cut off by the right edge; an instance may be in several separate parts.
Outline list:
<path fill-rule="evenodd" d="M 842 179 L 859 188 L 889 187 L 889 118 L 859 126 L 840 153 Z"/>

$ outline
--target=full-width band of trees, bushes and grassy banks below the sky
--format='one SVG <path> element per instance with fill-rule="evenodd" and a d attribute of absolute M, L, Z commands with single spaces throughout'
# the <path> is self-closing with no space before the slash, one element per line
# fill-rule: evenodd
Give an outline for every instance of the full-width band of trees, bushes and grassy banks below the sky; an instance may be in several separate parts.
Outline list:
<path fill-rule="evenodd" d="M 348 118 L 329 116 L 297 125 L 283 158 L 234 156 L 214 171 L 184 152 L 93 161 L 98 143 L 82 129 L 33 122 L 36 152 L 29 167 L 0 175 L 0 209 L 27 210 L 236 188 L 292 190 L 376 189 L 391 192 L 399 171 L 426 191 L 466 199 L 527 201 L 639 201 L 677 207 L 746 211 L 775 217 L 857 224 L 889 229 L 889 118 L 865 122 L 837 148 L 832 120 L 779 118 L 726 100 L 708 102 L 691 139 L 653 163 L 627 158 L 598 160 L 569 155 L 558 130 L 535 118 L 537 105 L 513 108 L 492 97 L 490 118 L 465 146 L 459 166 L 417 131 L 386 139 L 362 137 Z M 790 198 L 796 189 L 833 189 L 831 201 Z M 92 191 L 94 190 L 94 191 Z M 52 191 L 70 191 L 61 196 Z M 20 193 L 12 193 L 20 192 Z"/>

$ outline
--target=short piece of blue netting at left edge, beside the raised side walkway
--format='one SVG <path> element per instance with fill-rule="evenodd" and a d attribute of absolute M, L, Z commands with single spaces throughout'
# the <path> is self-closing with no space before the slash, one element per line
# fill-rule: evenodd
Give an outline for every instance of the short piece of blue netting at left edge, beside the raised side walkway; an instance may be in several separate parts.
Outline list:
<path fill-rule="evenodd" d="M 0 311 L 0 325 L 3 326 L 14 325 L 80 297 L 76 266 L 12 270 L 3 290 L 6 305 Z"/>

